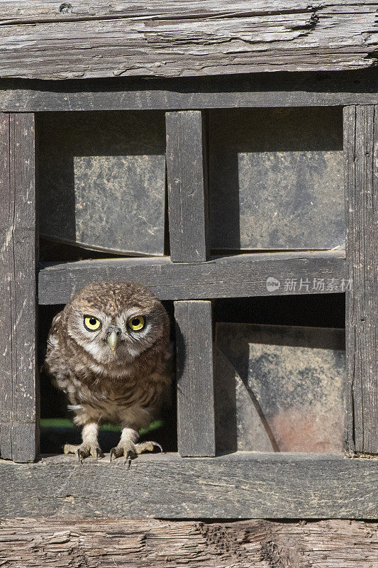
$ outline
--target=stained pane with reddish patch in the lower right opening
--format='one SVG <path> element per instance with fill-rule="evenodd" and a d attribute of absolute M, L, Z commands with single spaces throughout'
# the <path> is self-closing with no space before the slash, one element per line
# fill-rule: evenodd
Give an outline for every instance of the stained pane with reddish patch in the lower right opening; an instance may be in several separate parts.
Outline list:
<path fill-rule="evenodd" d="M 343 329 L 216 324 L 218 451 L 343 451 Z"/>

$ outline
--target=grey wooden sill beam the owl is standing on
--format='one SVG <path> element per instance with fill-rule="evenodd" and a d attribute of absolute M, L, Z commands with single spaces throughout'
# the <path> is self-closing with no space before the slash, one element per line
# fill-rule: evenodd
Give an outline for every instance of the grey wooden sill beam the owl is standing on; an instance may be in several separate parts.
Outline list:
<path fill-rule="evenodd" d="M 378 461 L 325 454 L 0 461 L 1 515 L 377 519 Z M 15 498 L 17 496 L 17 498 Z"/>

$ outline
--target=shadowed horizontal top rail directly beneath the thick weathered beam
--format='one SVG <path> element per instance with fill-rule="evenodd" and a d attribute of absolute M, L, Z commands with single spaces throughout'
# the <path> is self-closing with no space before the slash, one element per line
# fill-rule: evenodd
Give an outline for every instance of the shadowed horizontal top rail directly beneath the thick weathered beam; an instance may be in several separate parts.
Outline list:
<path fill-rule="evenodd" d="M 374 70 L 211 77 L 0 80 L 3 111 L 321 107 L 378 103 Z"/>

